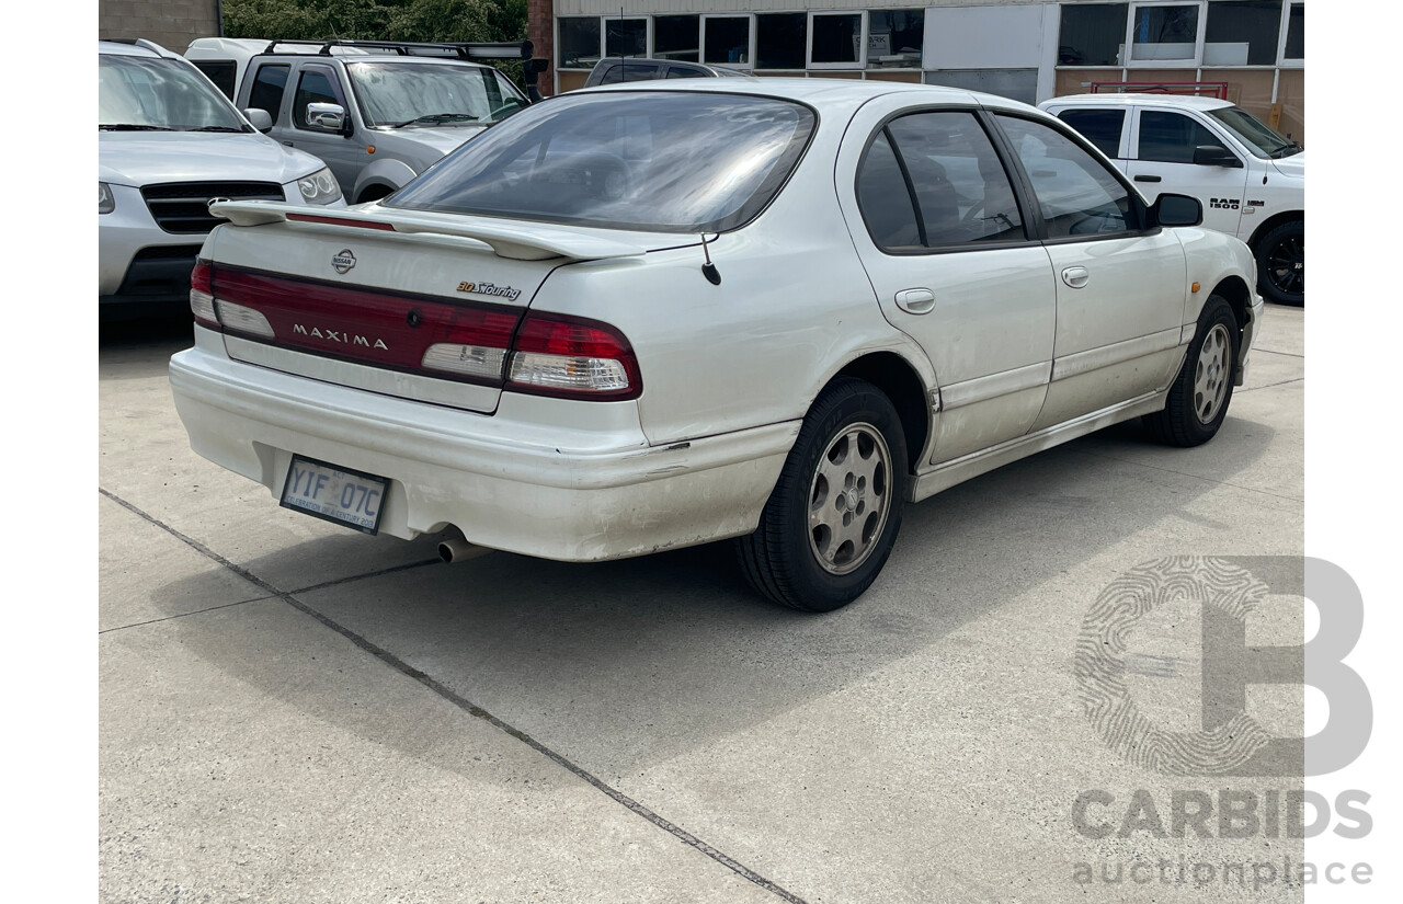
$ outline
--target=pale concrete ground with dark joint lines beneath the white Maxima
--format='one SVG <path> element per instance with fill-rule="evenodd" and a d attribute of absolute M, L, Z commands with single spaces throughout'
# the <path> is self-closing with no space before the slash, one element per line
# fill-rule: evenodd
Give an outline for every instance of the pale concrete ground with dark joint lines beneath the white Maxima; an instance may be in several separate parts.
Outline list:
<path fill-rule="evenodd" d="M 1121 425 L 909 507 L 877 584 L 822 617 L 753 597 L 727 544 L 446 566 L 435 538 L 279 509 L 189 451 L 166 377 L 188 328 L 108 335 L 100 898 L 1301 900 L 1254 882 L 1301 861 L 1270 823 L 1170 826 L 1184 795 L 1299 779 L 1132 765 L 1073 656 L 1148 559 L 1302 552 L 1303 327 L 1268 307 L 1208 446 Z M 1253 643 L 1299 642 L 1299 601 L 1268 614 Z M 1197 618 L 1170 605 L 1131 643 L 1132 695 L 1180 732 Z M 1299 699 L 1258 690 L 1253 715 L 1299 736 Z M 1166 831 L 1128 814 L 1136 789 Z M 1087 792 L 1114 802 L 1093 823 L 1142 828 L 1080 833 Z"/>

